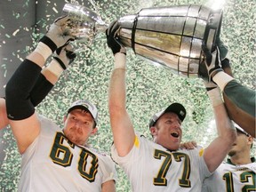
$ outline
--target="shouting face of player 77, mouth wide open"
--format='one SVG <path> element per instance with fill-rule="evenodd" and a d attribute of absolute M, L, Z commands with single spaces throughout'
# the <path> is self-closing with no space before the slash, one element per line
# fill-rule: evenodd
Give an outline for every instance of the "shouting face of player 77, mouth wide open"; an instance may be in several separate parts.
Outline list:
<path fill-rule="evenodd" d="M 177 150 L 182 138 L 181 121 L 175 113 L 164 113 L 154 127 L 150 128 L 154 141 L 164 148 Z"/>

